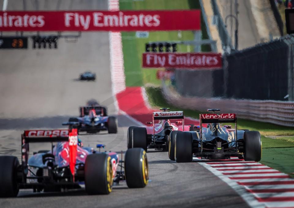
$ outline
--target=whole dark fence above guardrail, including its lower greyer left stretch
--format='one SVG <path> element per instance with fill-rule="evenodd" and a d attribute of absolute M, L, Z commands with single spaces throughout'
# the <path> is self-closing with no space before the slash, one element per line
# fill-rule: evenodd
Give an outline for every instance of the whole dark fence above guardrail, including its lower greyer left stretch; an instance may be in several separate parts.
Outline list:
<path fill-rule="evenodd" d="M 183 96 L 294 100 L 294 35 L 223 56 L 221 70 L 176 70 Z"/>

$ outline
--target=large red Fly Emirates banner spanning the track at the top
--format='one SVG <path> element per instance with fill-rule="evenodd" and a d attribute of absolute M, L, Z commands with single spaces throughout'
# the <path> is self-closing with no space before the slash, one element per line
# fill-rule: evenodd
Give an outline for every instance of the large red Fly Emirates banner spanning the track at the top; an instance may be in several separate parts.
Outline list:
<path fill-rule="evenodd" d="M 200 29 L 200 10 L 0 12 L 0 31 L 163 31 Z"/>

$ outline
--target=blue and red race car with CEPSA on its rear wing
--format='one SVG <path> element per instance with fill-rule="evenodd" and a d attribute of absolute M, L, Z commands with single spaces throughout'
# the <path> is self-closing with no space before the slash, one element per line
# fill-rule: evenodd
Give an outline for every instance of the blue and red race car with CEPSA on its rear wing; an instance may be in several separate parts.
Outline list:
<path fill-rule="evenodd" d="M 31 142 L 51 142 L 52 149 L 28 158 Z M 53 142 L 57 144 L 53 146 Z M 127 150 L 122 161 L 115 152 L 100 153 L 78 146 L 76 129 L 25 130 L 21 135 L 21 160 L 19 164 L 15 156 L 0 156 L 0 197 L 16 197 L 19 189 L 51 192 L 83 186 L 89 195 L 109 194 L 119 181 L 126 180 L 129 188 L 140 188 L 149 179 L 143 149 Z"/>

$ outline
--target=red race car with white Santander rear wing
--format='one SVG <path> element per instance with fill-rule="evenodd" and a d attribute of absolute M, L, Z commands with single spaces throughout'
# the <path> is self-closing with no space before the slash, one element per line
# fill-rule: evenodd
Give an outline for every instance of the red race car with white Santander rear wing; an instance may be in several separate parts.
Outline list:
<path fill-rule="evenodd" d="M 150 127 L 129 127 L 127 133 L 128 149 L 141 147 L 155 148 L 156 150 L 168 151 L 170 134 L 174 131 L 190 130 L 193 125 L 184 125 L 183 111 L 167 112 L 169 108 L 160 108 L 163 112 L 153 112 L 153 121 Z M 171 122 L 170 119 L 177 119 Z M 159 123 L 155 123 L 159 121 Z"/>

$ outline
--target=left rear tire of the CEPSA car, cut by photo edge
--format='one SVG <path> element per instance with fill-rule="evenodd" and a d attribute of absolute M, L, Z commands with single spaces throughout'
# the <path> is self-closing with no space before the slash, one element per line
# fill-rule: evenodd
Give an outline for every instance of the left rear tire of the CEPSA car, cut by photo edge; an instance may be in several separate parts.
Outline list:
<path fill-rule="evenodd" d="M 17 167 L 19 161 L 15 156 L 0 156 L 0 197 L 16 197 L 19 191 Z"/>

